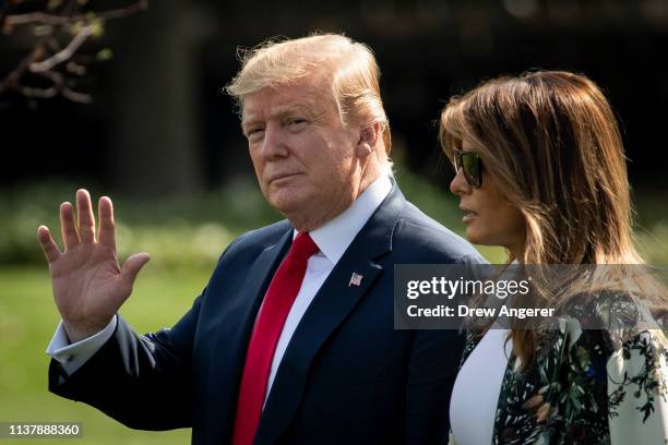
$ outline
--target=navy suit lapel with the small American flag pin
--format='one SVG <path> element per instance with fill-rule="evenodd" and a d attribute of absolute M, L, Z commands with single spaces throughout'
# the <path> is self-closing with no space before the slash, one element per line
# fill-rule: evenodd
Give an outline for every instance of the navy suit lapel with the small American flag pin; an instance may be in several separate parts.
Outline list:
<path fill-rule="evenodd" d="M 405 200 L 396 184 L 338 261 L 297 326 L 264 407 L 255 443 L 276 443 L 295 416 L 318 350 L 383 273 L 375 262 L 392 250 Z M 359 285 L 350 284 L 353 274 Z"/>

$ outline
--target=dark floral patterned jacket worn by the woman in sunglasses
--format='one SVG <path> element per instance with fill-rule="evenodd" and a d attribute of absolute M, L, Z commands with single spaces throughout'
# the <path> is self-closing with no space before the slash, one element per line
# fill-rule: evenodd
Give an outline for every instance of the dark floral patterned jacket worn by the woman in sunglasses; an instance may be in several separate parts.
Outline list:
<path fill-rule="evenodd" d="M 492 444 L 668 444 L 668 353 L 660 337 L 659 329 L 589 330 L 574 317 L 560 318 L 527 370 L 509 358 Z M 480 338 L 467 335 L 462 363 Z"/>

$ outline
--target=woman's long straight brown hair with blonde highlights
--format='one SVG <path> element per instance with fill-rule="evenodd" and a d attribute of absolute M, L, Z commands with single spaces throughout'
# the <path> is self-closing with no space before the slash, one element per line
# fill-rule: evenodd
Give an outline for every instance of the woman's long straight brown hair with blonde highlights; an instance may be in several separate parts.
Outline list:
<path fill-rule="evenodd" d="M 464 140 L 480 154 L 484 175 L 524 216 L 521 263 L 643 264 L 633 242 L 617 120 L 589 79 L 536 71 L 485 82 L 452 98 L 441 115 L 440 141 L 451 159 Z M 599 274 L 599 284 L 605 285 L 605 275 Z M 618 276 L 610 282 L 622 281 Z M 656 289 L 655 281 L 644 282 Z M 566 293 L 542 297 L 564 299 Z M 516 356 L 528 363 L 536 332 L 513 329 L 512 339 Z"/>

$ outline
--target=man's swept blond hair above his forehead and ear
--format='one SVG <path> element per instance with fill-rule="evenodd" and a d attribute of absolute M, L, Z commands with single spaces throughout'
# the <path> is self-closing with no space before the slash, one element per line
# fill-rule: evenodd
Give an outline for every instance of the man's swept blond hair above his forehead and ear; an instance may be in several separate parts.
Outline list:
<path fill-rule="evenodd" d="M 380 95 L 380 70 L 371 49 L 338 34 L 270 39 L 240 53 L 241 70 L 225 88 L 243 107 L 243 97 L 265 87 L 290 85 L 309 76 L 327 81 L 343 123 L 380 123 L 385 154 L 390 122 Z"/>

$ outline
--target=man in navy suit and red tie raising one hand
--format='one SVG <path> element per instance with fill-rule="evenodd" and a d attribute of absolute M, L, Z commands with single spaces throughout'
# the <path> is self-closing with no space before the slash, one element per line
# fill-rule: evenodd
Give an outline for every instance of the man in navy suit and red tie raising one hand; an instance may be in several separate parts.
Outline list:
<path fill-rule="evenodd" d="M 62 315 L 49 388 L 193 443 L 437 443 L 462 342 L 393 329 L 393 266 L 480 262 L 405 201 L 371 51 L 339 35 L 251 52 L 237 98 L 262 193 L 287 218 L 242 234 L 192 309 L 139 336 L 117 314 L 145 253 L 118 266 L 111 202 L 61 206 L 39 239 Z M 72 345 L 69 345 L 72 344 Z M 68 346 L 69 345 L 69 346 Z"/>

